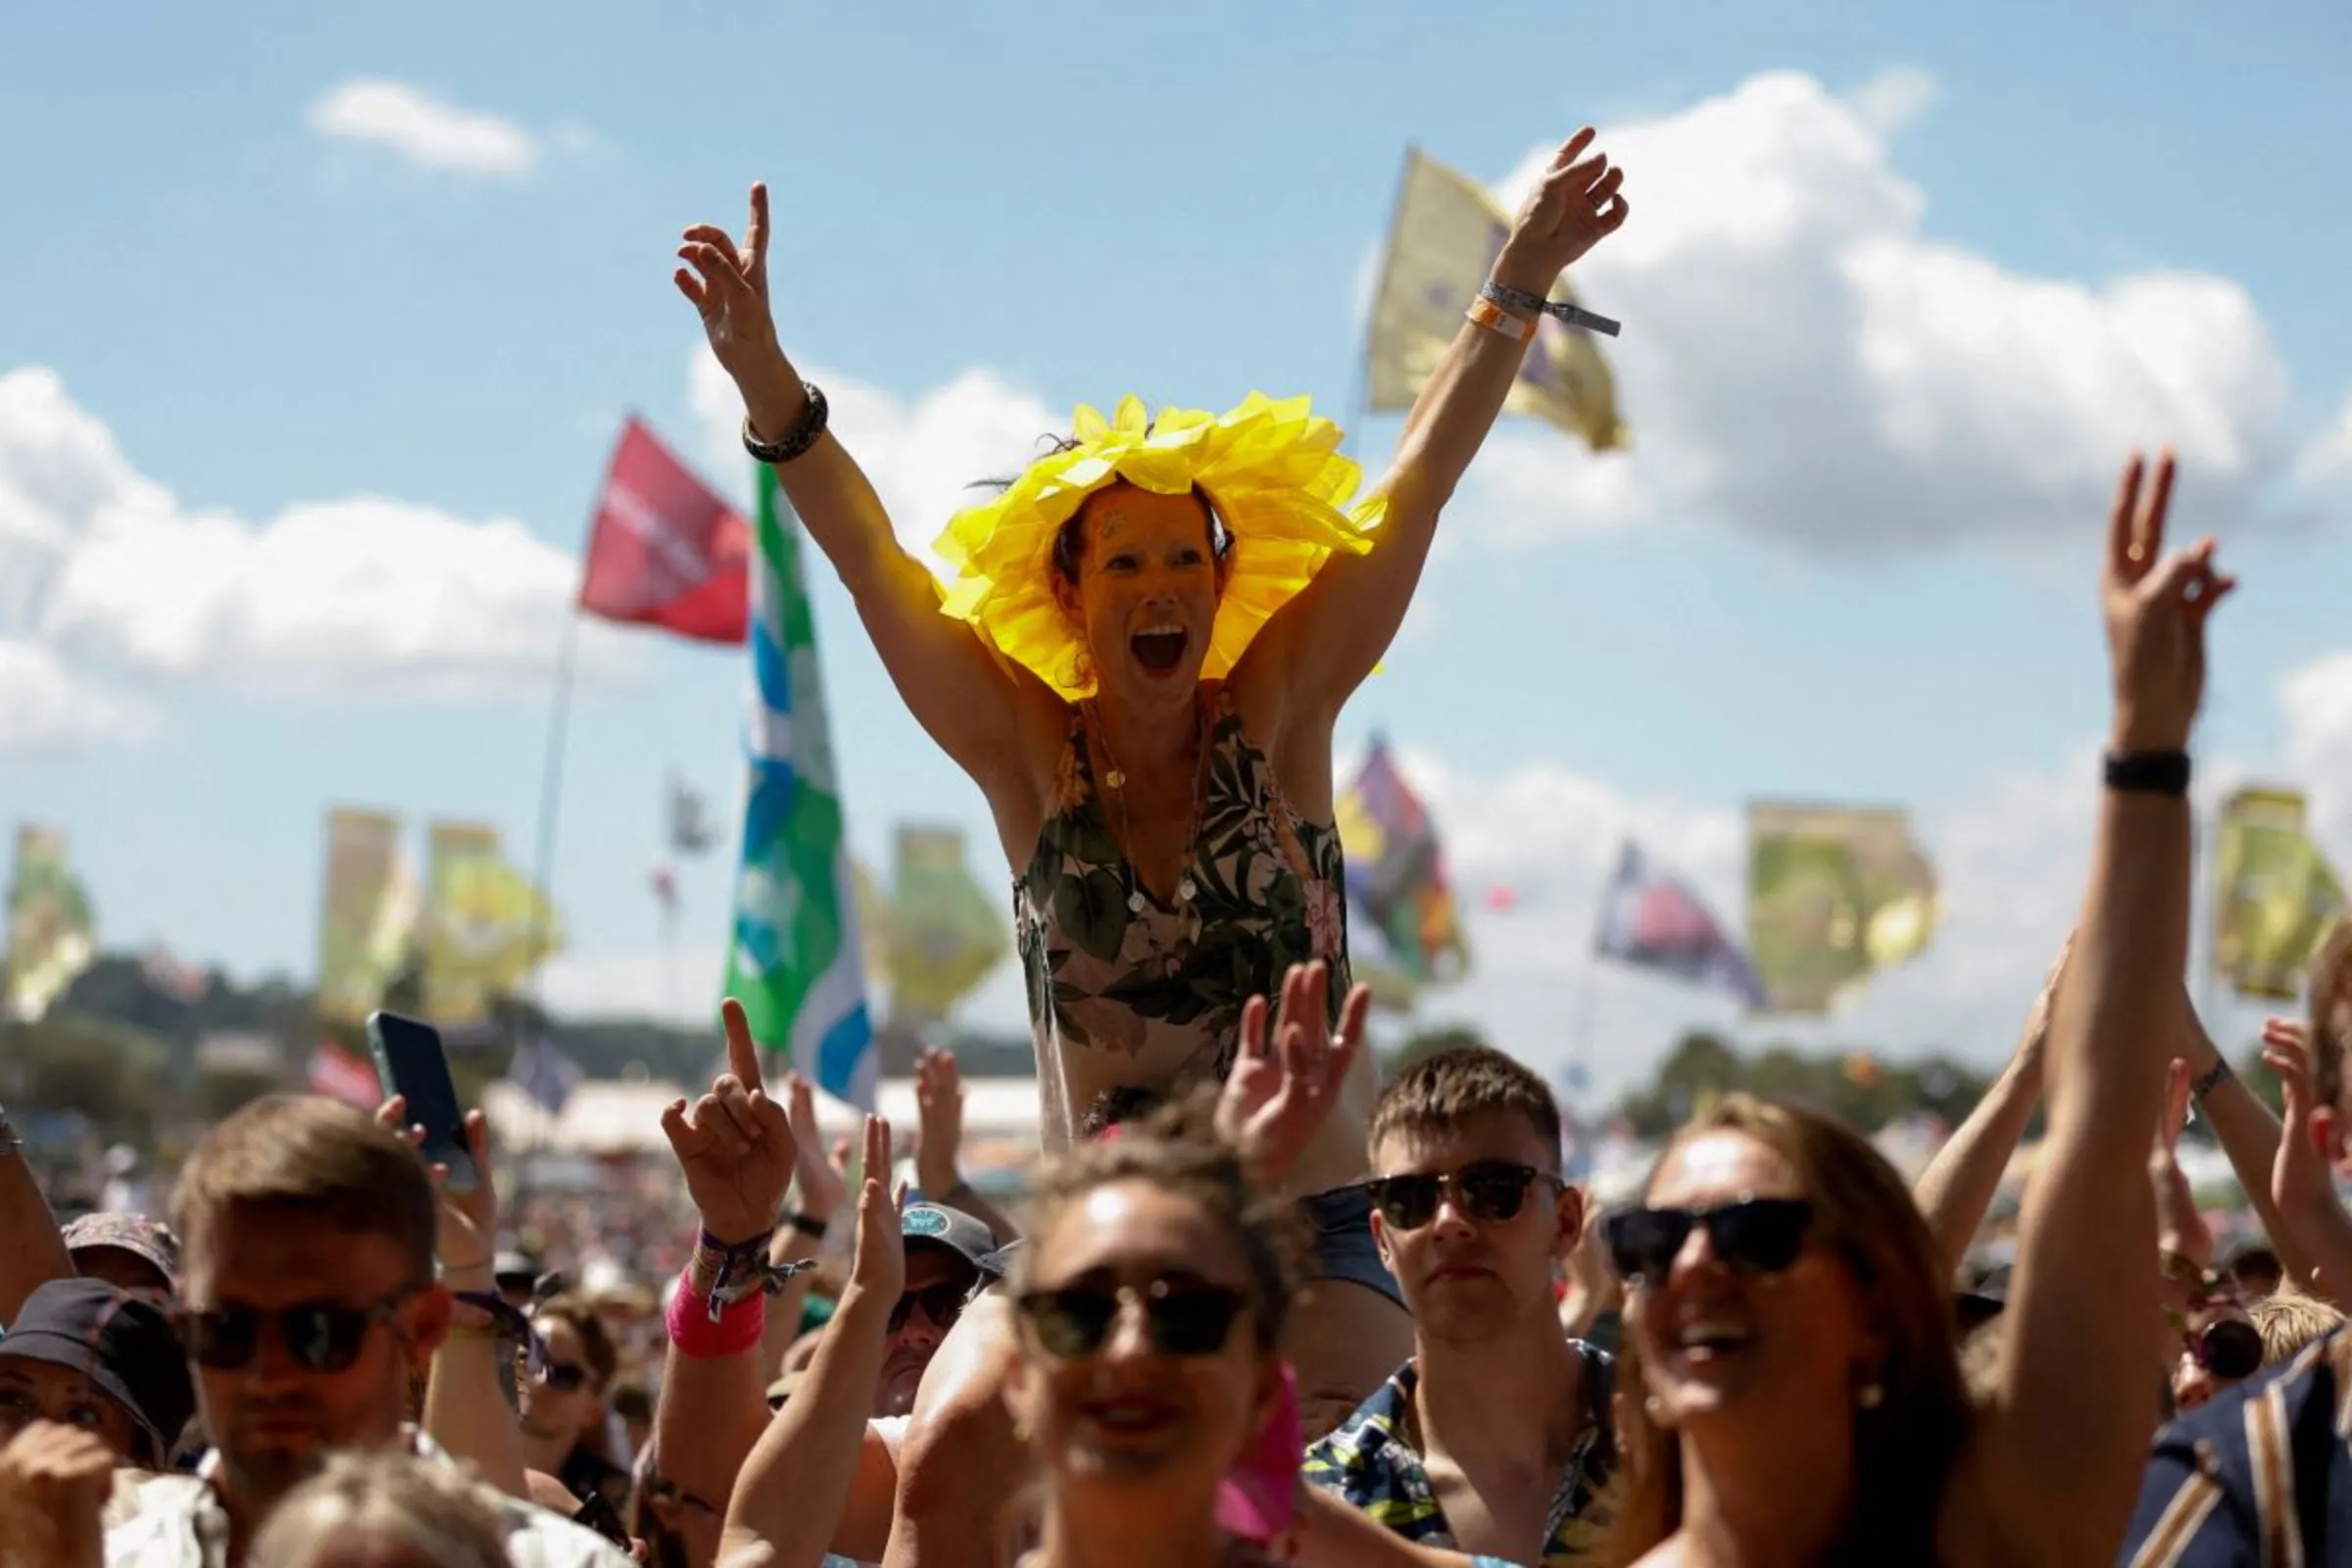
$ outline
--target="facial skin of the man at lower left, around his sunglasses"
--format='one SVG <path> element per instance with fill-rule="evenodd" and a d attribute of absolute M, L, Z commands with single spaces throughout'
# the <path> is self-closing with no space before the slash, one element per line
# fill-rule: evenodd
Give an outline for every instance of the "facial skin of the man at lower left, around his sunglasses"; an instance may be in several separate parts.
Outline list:
<path fill-rule="evenodd" d="M 252 1530 L 329 1453 L 390 1443 L 407 1415 L 409 1378 L 449 1333 L 449 1293 L 419 1279 L 402 1248 L 379 1234 L 230 1206 L 198 1215 L 186 1237 L 191 1312 L 242 1302 L 263 1312 L 303 1302 L 367 1307 L 423 1286 L 390 1324 L 367 1331 L 341 1373 L 303 1371 L 275 1326 L 238 1371 L 191 1363 L 195 1401 L 221 1458 L 221 1495 L 235 1530 Z"/>

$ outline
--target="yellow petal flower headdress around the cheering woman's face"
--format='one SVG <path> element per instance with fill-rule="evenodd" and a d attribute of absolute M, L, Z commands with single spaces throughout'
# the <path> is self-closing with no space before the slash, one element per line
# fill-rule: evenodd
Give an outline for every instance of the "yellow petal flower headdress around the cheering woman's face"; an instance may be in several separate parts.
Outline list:
<path fill-rule="evenodd" d="M 1080 404 L 1077 444 L 1037 458 L 1014 484 L 957 512 L 934 545 L 957 567 L 946 614 L 969 621 L 1009 658 L 1065 698 L 1094 696 L 1084 639 L 1054 599 L 1054 536 L 1080 503 L 1117 480 L 1162 496 L 1200 484 L 1232 534 L 1225 592 L 1202 675 L 1240 663 L 1268 616 L 1315 581 L 1334 550 L 1362 555 L 1383 501 L 1345 510 L 1362 480 L 1341 456 L 1341 430 L 1308 411 L 1305 397 L 1275 402 L 1251 393 L 1230 414 L 1164 409 L 1145 418 L 1122 397 L 1112 418 Z"/>

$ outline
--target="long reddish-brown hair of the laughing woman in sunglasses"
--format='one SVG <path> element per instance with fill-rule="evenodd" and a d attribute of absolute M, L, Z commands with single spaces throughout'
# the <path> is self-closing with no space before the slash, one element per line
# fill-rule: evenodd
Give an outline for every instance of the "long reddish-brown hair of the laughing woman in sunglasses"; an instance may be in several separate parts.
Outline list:
<path fill-rule="evenodd" d="M 1856 1514 L 1837 1561 L 1933 1561 L 1936 1516 L 1971 1406 L 1952 1345 L 1952 1293 L 1910 1187 L 1851 1128 L 1750 1093 L 1724 1095 L 1684 1124 L 1651 1180 L 1679 1145 L 1715 1131 L 1755 1138 L 1797 1171 L 1813 1204 L 1813 1239 L 1853 1276 L 1886 1342 L 1882 1399 L 1856 1413 Z M 1682 1523 L 1682 1446 L 1644 1408 L 1639 1333 L 1625 1335 L 1618 1385 L 1628 1483 L 1602 1561 L 1635 1563 Z"/>

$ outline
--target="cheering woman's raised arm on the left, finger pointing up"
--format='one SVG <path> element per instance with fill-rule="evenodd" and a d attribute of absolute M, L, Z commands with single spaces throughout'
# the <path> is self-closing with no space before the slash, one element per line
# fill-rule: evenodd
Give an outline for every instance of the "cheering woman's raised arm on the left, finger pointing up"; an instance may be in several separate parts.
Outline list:
<path fill-rule="evenodd" d="M 750 188 L 743 244 L 715 223 L 684 233 L 677 292 L 703 317 L 710 353 L 743 393 L 750 430 L 762 442 L 790 442 L 809 416 L 809 395 L 776 343 L 767 292 L 767 186 Z M 898 545 L 873 482 L 830 433 L 800 456 L 776 463 L 776 477 L 816 548 L 826 552 L 858 607 L 866 635 L 915 719 L 981 790 L 1021 778 L 1018 712 L 1044 691 L 997 658 L 971 625 L 938 614 L 931 571 Z"/>

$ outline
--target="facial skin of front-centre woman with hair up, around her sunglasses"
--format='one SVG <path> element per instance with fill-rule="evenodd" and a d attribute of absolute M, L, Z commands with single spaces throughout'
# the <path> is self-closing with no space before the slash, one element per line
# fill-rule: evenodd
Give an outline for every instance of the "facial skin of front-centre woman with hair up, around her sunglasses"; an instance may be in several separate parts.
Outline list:
<path fill-rule="evenodd" d="M 1240 1246 L 1197 1201 L 1138 1180 L 1096 1187 L 1033 1246 L 1033 1291 L 1096 1279 L 1143 1288 L 1171 1274 L 1235 1291 L 1249 1281 Z M 1058 1361 L 1023 1328 L 1009 1401 L 1051 1474 L 1049 1540 L 1065 1530 L 1101 1547 L 1152 1533 L 1157 1559 L 1157 1542 L 1200 1535 L 1192 1561 L 1211 1561 L 1218 1476 L 1265 1422 L 1275 1380 L 1247 1312 L 1209 1356 L 1152 1349 L 1136 1305 L 1084 1359 Z"/>

